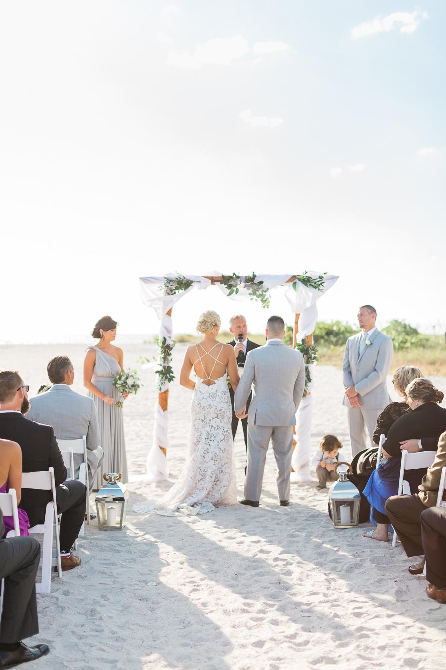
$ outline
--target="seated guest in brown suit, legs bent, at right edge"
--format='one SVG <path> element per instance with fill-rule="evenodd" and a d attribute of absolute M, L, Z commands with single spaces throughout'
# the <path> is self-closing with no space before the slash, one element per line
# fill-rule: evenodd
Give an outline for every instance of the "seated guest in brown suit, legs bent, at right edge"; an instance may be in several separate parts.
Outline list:
<path fill-rule="evenodd" d="M 423 554 L 421 544 L 421 514 L 428 507 L 437 505 L 441 468 L 446 466 L 446 433 L 440 435 L 437 454 L 418 487 L 419 492 L 411 496 L 392 496 L 384 505 L 386 515 L 398 533 L 405 552 L 410 557 Z M 409 572 L 419 575 L 423 572 L 424 559 L 409 567 Z"/>

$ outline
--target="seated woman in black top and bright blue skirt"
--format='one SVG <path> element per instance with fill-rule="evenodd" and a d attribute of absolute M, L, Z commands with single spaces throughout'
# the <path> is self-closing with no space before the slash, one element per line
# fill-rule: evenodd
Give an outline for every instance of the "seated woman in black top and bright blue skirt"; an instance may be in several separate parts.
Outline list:
<path fill-rule="evenodd" d="M 405 440 L 421 440 L 436 438 L 446 430 L 446 409 L 438 406 L 443 400 L 443 393 L 436 389 L 429 379 L 421 377 L 411 381 L 406 389 L 407 403 L 411 411 L 403 414 L 389 429 L 378 470 L 374 470 L 364 488 L 364 496 L 373 507 L 372 518 L 376 521 L 376 529 L 362 533 L 363 537 L 387 542 L 388 517 L 384 512 L 387 498 L 398 493 L 399 472 L 401 467 L 401 442 Z M 431 446 L 427 446 L 433 451 Z M 426 470 L 411 470 L 406 479 L 415 490 L 421 483 Z"/>

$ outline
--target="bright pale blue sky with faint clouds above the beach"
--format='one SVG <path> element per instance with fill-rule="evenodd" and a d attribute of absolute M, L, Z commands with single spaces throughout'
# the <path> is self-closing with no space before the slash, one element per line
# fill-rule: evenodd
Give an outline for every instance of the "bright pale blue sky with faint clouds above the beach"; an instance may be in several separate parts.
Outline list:
<path fill-rule="evenodd" d="M 3 1 L 0 342 L 156 332 L 138 277 L 171 271 L 328 272 L 320 319 L 445 330 L 445 29 L 442 0 Z M 175 330 L 207 308 L 268 316 L 211 287 Z"/>

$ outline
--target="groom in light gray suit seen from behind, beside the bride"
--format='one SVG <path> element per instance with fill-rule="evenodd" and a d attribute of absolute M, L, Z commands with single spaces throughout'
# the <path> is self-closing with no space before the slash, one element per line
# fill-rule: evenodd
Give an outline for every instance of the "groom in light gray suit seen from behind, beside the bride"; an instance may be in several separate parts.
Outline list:
<path fill-rule="evenodd" d="M 245 415 L 251 385 L 254 395 L 249 405 L 248 464 L 245 499 L 242 505 L 259 507 L 263 470 L 269 440 L 277 463 L 277 492 L 283 507 L 290 505 L 290 475 L 293 426 L 305 387 L 304 357 L 282 342 L 285 322 L 271 316 L 265 330 L 265 346 L 247 354 L 243 376 L 235 391 L 235 412 Z"/>

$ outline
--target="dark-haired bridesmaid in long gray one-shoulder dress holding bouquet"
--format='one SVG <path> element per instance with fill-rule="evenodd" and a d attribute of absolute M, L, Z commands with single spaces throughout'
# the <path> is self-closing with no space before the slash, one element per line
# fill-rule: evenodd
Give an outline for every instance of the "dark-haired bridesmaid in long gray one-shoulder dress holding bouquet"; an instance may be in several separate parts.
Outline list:
<path fill-rule="evenodd" d="M 104 450 L 102 470 L 98 470 L 93 488 L 102 486 L 103 472 L 121 472 L 122 482 L 128 482 L 126 444 L 122 409 L 116 407 L 120 393 L 113 386 L 113 379 L 122 371 L 124 354 L 114 346 L 118 322 L 111 316 L 103 316 L 96 323 L 92 337 L 99 340 L 89 346 L 84 360 L 84 387 L 93 398 L 98 411 L 101 446 Z M 128 393 L 124 393 L 124 398 Z"/>

